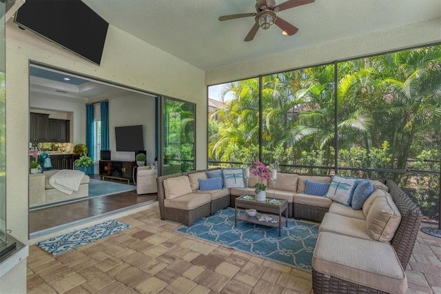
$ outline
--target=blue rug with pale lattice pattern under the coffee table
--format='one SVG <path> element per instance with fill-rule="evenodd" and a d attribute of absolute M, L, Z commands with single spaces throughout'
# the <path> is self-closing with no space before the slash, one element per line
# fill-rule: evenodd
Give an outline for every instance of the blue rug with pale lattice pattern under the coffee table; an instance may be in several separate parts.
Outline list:
<path fill-rule="evenodd" d="M 245 212 L 240 210 L 240 213 Z M 190 227 L 182 226 L 176 231 L 311 272 L 319 226 L 320 224 L 288 219 L 288 228 L 283 224 L 282 236 L 278 237 L 278 228 L 240 220 L 235 227 L 234 209 L 225 208 L 214 215 L 199 219 Z"/>

